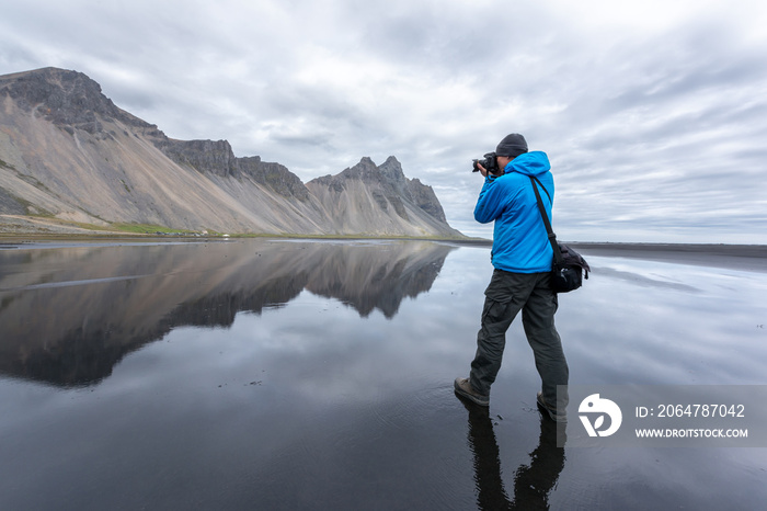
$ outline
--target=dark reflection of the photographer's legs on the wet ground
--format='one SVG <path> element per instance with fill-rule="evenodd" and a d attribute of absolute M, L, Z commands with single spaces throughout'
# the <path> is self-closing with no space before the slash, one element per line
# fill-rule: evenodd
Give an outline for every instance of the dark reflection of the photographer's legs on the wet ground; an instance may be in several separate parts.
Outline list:
<path fill-rule="evenodd" d="M 549 492 L 564 467 L 564 448 L 557 446 L 557 423 L 540 418 L 538 447 L 530 453 L 529 465 L 522 464 L 514 473 L 514 495 L 510 498 L 501 478 L 501 457 L 489 409 L 462 399 L 461 402 L 469 411 L 469 446 L 474 454 L 479 509 L 549 509 Z M 560 444 L 564 445 L 564 431 L 559 434 Z"/>

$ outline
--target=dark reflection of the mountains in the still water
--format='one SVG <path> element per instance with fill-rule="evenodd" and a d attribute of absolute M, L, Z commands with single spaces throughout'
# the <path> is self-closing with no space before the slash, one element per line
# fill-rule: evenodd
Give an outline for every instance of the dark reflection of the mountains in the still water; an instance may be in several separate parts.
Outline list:
<path fill-rule="evenodd" d="M 451 247 L 300 242 L 62 247 L 0 252 L 0 373 L 98 383 L 176 327 L 229 327 L 304 289 L 391 319 L 427 292 Z"/>

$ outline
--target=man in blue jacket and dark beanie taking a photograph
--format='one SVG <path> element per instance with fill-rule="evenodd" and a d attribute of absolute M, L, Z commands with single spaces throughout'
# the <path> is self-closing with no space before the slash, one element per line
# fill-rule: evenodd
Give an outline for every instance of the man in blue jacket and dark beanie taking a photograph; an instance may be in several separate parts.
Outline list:
<path fill-rule="evenodd" d="M 550 419 L 565 421 L 566 388 L 558 397 L 557 386 L 568 384 L 569 370 L 554 327 L 558 302 L 550 288 L 553 251 L 529 178 L 536 178 L 546 190 L 539 193 L 551 218 L 551 166 L 545 152 L 528 152 L 525 137 L 516 133 L 501 140 L 495 155 L 497 174 L 478 164 L 485 182 L 474 208 L 477 222 L 495 222 L 491 253 L 495 271 L 484 292 L 482 327 L 470 375 L 456 378 L 455 390 L 477 405 L 490 406 L 490 387 L 501 370 L 506 330 L 522 310 L 525 336 L 542 383 L 538 407 Z"/>

